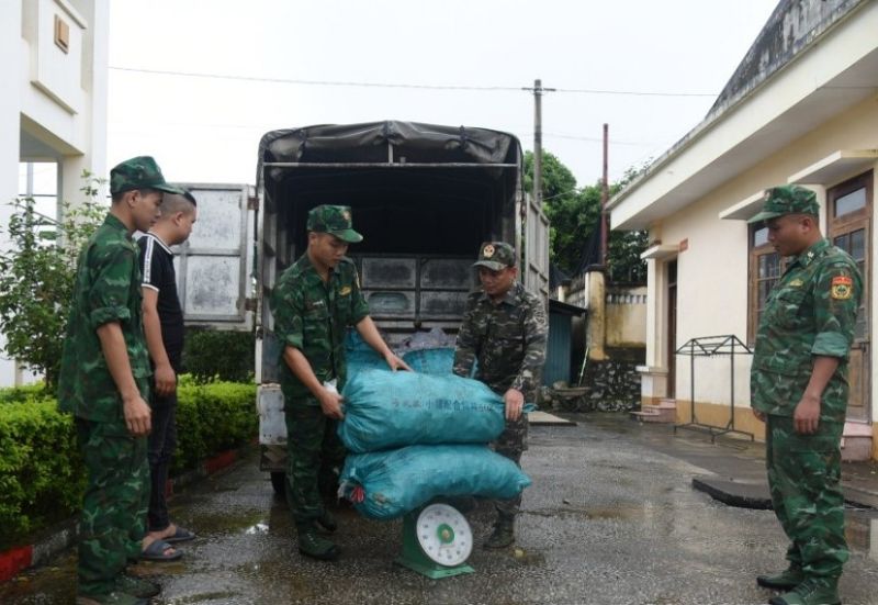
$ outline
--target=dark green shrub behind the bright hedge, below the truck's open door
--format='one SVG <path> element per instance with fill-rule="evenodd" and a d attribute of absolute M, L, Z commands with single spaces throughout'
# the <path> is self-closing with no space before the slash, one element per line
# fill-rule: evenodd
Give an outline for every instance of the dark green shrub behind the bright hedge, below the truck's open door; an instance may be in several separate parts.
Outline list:
<path fill-rule="evenodd" d="M 198 382 L 250 382 L 255 371 L 255 343 L 251 332 L 187 329 L 183 371 Z"/>

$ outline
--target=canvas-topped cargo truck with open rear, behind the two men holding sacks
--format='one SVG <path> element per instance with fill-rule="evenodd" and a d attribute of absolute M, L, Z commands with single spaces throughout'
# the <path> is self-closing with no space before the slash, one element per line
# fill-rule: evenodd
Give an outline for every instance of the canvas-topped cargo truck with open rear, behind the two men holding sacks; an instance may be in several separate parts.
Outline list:
<path fill-rule="evenodd" d="M 196 195 L 209 193 L 195 187 Z M 281 272 L 306 249 L 311 209 L 351 206 L 364 239 L 348 256 L 392 347 L 416 333 L 457 333 L 466 294 L 477 285 L 472 264 L 484 240 L 514 243 L 524 251 L 524 283 L 548 295 L 548 221 L 522 190 L 521 145 L 511 134 L 392 121 L 271 131 L 259 144 L 256 193 L 246 204 L 251 216 L 241 223 L 254 228 L 247 238 L 255 251 L 249 280 L 236 273 L 230 281 L 250 289 L 249 295 L 239 293 L 237 309 L 251 312 L 260 467 L 272 473 L 278 491 L 286 430 L 268 300 Z M 200 216 L 196 236 L 203 223 Z M 243 258 L 250 262 L 250 256 Z M 223 264 L 228 257 L 213 259 Z M 219 295 L 210 282 L 201 289 L 205 296 Z"/>

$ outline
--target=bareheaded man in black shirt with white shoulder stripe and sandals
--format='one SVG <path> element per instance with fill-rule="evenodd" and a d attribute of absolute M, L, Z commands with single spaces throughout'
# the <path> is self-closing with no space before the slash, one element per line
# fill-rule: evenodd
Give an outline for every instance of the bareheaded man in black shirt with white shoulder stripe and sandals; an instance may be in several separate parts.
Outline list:
<path fill-rule="evenodd" d="M 170 247 L 189 238 L 198 209 L 195 198 L 184 191 L 182 195 L 166 195 L 160 210 L 161 216 L 139 240 L 144 333 L 154 379 L 153 432 L 147 451 L 151 475 L 149 514 L 140 556 L 153 561 L 172 561 L 182 554 L 173 544 L 195 536 L 170 522 L 165 500 L 168 468 L 177 447 L 177 374 L 183 352 L 183 311 L 177 295 Z"/>

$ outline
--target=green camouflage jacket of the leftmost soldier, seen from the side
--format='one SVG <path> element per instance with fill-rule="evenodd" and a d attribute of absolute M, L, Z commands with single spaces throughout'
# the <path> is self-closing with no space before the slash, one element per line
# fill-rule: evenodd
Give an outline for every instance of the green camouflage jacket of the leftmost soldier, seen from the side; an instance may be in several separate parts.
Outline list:
<path fill-rule="evenodd" d="M 123 419 L 122 399 L 106 367 L 98 328 L 119 322 L 132 373 L 147 396 L 151 374 L 143 323 L 139 249 L 108 214 L 79 254 L 58 379 L 58 408 L 97 422 Z M 143 380 L 140 380 L 143 379 Z"/>

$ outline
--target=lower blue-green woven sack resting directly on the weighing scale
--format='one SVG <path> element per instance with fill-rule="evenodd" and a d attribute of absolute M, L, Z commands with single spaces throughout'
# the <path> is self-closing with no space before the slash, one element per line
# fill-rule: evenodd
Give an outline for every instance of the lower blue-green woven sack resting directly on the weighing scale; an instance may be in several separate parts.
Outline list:
<path fill-rule="evenodd" d="M 515 462 L 487 446 L 409 446 L 349 455 L 339 492 L 363 516 L 394 519 L 438 496 L 508 500 L 528 485 Z"/>

